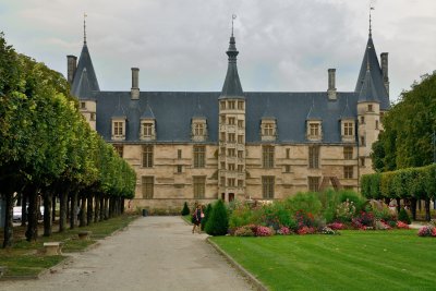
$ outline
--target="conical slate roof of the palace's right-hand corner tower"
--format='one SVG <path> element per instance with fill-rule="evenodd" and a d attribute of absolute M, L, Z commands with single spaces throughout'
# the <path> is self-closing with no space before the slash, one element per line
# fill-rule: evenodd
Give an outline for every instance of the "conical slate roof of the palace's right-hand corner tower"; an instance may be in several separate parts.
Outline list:
<path fill-rule="evenodd" d="M 376 93 L 376 98 L 378 98 L 380 102 L 380 109 L 388 110 L 390 108 L 389 96 L 383 82 L 383 73 L 371 33 L 366 44 L 365 54 L 363 56 L 358 83 L 355 84 L 355 93 L 358 94 L 361 94 L 362 87 L 365 81 L 367 81 L 367 68 L 370 68 L 371 85 Z"/>

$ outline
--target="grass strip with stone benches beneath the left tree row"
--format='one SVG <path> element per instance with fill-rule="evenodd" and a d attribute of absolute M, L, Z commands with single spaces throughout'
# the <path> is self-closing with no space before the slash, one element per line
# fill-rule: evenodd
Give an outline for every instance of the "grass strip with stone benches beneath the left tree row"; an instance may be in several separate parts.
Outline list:
<path fill-rule="evenodd" d="M 11 248 L 0 248 L 0 266 L 7 267 L 3 278 L 36 277 L 65 258 L 62 255 L 44 255 L 44 242 L 63 242 L 63 253 L 80 252 L 94 244 L 96 240 L 126 227 L 135 218 L 136 216 L 123 215 L 84 228 L 69 229 L 62 233 L 55 232 L 51 237 L 39 237 L 36 242 L 19 240 Z M 90 240 L 78 240 L 77 233 L 84 230 L 92 231 Z"/>

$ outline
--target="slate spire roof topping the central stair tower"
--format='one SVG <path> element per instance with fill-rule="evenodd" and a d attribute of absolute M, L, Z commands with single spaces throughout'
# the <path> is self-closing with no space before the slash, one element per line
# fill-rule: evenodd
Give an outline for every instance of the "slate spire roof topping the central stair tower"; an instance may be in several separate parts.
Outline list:
<path fill-rule="evenodd" d="M 229 64 L 227 66 L 227 74 L 225 84 L 222 86 L 221 95 L 219 99 L 225 98 L 237 98 L 244 99 L 244 93 L 242 90 L 241 82 L 238 74 L 237 56 L 239 51 L 237 50 L 233 33 L 230 37 L 229 49 L 227 50 L 227 56 L 229 56 Z"/>

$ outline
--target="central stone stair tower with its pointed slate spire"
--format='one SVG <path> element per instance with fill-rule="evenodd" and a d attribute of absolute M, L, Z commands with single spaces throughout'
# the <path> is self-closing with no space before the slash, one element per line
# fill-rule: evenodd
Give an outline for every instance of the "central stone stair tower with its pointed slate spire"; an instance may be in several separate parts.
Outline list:
<path fill-rule="evenodd" d="M 219 193 L 223 201 L 245 196 L 245 97 L 238 75 L 235 40 L 230 37 L 229 64 L 219 101 Z"/>

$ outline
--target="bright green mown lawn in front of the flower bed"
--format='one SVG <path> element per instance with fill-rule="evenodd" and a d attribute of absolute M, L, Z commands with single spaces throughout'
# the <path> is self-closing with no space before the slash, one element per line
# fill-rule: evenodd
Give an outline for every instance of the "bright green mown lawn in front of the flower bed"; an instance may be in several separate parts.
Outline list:
<path fill-rule="evenodd" d="M 416 230 L 215 237 L 270 290 L 436 290 L 436 239 Z"/>

